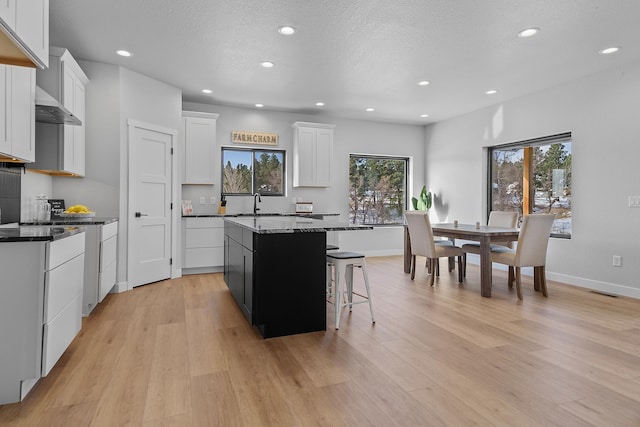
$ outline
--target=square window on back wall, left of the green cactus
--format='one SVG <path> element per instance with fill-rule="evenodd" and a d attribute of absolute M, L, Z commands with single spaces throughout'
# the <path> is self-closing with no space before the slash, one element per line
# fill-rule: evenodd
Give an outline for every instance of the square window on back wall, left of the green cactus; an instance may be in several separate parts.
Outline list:
<path fill-rule="evenodd" d="M 407 207 L 409 159 L 349 156 L 349 222 L 403 224 Z"/>

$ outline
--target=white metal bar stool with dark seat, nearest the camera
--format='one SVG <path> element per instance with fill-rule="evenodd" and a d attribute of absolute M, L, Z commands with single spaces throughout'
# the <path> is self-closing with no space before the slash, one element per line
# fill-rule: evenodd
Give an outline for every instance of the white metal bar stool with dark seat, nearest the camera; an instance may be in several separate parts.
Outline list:
<path fill-rule="evenodd" d="M 332 290 L 331 267 L 335 270 L 335 292 L 333 292 L 333 296 L 336 313 L 336 329 L 340 328 L 340 313 L 342 312 L 342 307 L 349 306 L 349 311 L 351 311 L 351 308 L 355 304 L 369 303 L 371 322 L 376 323 L 373 316 L 373 304 L 371 302 L 371 291 L 369 289 L 369 276 L 367 275 L 367 264 L 365 262 L 364 254 L 357 252 L 331 252 L 327 254 L 327 293 L 329 294 L 331 294 Z M 362 270 L 364 287 L 367 292 L 366 296 L 353 291 L 354 267 L 358 267 Z M 353 294 L 363 298 L 363 300 L 354 302 Z M 346 301 L 344 301 L 345 297 Z"/>

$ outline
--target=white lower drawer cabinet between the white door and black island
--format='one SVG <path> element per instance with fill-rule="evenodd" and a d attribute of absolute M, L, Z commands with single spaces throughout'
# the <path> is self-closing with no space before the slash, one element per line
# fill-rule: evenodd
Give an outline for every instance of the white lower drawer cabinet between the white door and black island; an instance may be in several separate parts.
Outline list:
<path fill-rule="evenodd" d="M 224 265 L 224 221 L 222 218 L 184 218 L 183 270 L 189 274 L 222 271 Z M 185 270 L 186 269 L 186 270 Z"/>

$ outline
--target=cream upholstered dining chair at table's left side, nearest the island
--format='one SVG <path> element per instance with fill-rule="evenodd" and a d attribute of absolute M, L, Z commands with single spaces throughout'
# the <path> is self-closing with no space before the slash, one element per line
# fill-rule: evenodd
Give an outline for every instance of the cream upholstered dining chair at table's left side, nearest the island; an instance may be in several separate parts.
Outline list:
<path fill-rule="evenodd" d="M 440 258 L 458 257 L 458 281 L 462 283 L 462 249 L 454 244 L 438 244 L 433 239 L 429 214 L 422 211 L 405 212 L 411 241 L 411 280 L 416 276 L 416 256 L 427 258 L 430 271 L 430 285 L 436 276 L 436 266 Z"/>

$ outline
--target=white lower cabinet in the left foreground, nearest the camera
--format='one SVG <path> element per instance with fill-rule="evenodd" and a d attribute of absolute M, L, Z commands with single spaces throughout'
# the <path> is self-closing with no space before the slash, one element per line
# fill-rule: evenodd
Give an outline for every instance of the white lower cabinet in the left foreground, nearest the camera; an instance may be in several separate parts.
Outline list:
<path fill-rule="evenodd" d="M 0 405 L 19 402 L 82 327 L 85 234 L 0 243 Z"/>

